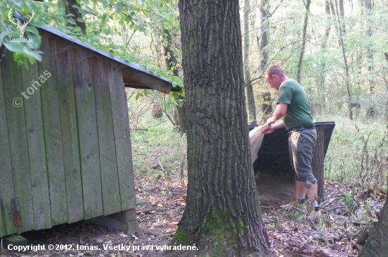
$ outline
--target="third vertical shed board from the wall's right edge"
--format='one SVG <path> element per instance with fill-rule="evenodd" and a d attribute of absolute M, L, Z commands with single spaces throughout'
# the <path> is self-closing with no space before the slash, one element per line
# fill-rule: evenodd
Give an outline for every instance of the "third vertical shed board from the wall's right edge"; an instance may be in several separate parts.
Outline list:
<path fill-rule="evenodd" d="M 95 85 L 88 51 L 73 49 L 73 77 L 77 106 L 84 218 L 102 215 L 102 186 L 95 105 Z"/>

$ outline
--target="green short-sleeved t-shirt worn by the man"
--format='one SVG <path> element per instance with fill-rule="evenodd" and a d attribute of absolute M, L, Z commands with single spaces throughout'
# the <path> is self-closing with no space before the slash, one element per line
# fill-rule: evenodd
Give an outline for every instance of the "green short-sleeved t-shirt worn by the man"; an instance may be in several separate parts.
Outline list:
<path fill-rule="evenodd" d="M 294 127 L 315 125 L 311 116 L 310 101 L 301 85 L 295 80 L 286 80 L 279 88 L 277 104 L 288 104 L 283 117 L 286 130 Z"/>

